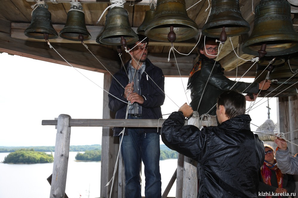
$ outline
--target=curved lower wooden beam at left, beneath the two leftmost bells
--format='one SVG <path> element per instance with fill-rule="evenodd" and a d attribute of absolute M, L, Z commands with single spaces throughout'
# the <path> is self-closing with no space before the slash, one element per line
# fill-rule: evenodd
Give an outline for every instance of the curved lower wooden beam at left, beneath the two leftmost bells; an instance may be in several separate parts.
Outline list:
<path fill-rule="evenodd" d="M 106 73 L 107 70 L 111 73 L 115 73 L 120 68 L 119 61 L 95 55 L 105 66 L 103 67 L 90 53 L 70 50 L 53 43 L 51 45 L 74 67 L 101 73 Z M 9 34 L 3 32 L 0 32 L 0 52 L 69 66 L 69 64 L 65 62 L 54 49 L 51 49 L 46 42 L 19 40 L 11 38 Z M 105 68 L 107 68 L 107 70 Z"/>

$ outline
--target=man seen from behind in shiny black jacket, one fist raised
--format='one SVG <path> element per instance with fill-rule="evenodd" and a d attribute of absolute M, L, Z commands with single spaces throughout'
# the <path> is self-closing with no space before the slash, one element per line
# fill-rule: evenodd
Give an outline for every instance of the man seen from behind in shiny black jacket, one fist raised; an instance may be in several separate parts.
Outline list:
<path fill-rule="evenodd" d="M 193 113 L 186 103 L 162 125 L 162 141 L 172 150 L 198 161 L 198 197 L 257 198 L 260 168 L 264 162 L 263 142 L 250 131 L 245 96 L 225 91 L 218 97 L 218 126 L 184 126 Z"/>

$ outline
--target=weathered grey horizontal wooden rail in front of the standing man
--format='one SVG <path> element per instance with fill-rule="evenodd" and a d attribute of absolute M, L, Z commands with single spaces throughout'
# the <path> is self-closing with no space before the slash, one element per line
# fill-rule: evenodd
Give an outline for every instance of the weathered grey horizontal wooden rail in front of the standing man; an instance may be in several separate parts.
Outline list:
<path fill-rule="evenodd" d="M 193 117 L 191 117 L 193 118 Z M 194 118 L 193 118 L 194 119 Z M 70 127 L 162 127 L 165 119 L 70 119 Z M 202 121 L 202 126 L 207 126 L 207 120 Z M 42 120 L 41 125 L 57 125 L 58 120 Z M 211 123 L 216 123 L 216 116 L 211 116 Z M 185 120 L 187 125 L 187 120 Z"/>

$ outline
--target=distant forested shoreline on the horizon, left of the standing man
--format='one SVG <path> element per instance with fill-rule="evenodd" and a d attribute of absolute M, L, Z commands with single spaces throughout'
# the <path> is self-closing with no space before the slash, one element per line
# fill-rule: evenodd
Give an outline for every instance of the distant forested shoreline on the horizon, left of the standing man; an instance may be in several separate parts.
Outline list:
<path fill-rule="evenodd" d="M 20 149 L 34 149 L 35 151 L 40 152 L 55 152 L 55 146 L 35 146 L 35 147 L 2 147 L 0 146 L 0 153 L 11 153 L 16 150 Z M 80 146 L 70 146 L 70 152 L 83 152 L 85 150 L 101 150 L 100 144 L 93 144 L 93 145 L 80 145 Z"/>

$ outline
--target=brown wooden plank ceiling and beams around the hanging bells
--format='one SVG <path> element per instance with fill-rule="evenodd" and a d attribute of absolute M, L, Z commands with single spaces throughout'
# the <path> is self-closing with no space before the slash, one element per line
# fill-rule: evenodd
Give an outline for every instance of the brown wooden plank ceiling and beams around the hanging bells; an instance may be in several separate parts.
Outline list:
<path fill-rule="evenodd" d="M 49 7 L 48 10 L 52 14 L 52 24 L 55 30 L 59 33 L 66 23 L 67 12 L 70 9 L 70 1 L 56 0 L 57 4 L 50 0 L 45 1 Z M 83 68 L 105 73 L 107 70 L 116 72 L 120 66 L 121 61 L 117 53 L 117 47 L 111 45 L 103 45 L 96 43 L 96 37 L 103 31 L 105 25 L 105 17 L 102 17 L 99 23 L 97 20 L 102 15 L 103 11 L 110 5 L 108 0 L 80 0 L 85 13 L 85 22 L 88 31 L 91 33 L 91 40 L 84 43 L 88 49 L 100 60 L 101 63 L 94 58 L 94 56 L 80 43 L 70 41 L 63 38 L 50 40 L 51 45 L 63 54 L 63 57 L 71 62 L 75 67 Z M 187 14 L 189 18 L 198 24 L 199 32 L 207 20 L 210 8 L 208 0 L 186 0 Z M 243 18 L 251 25 L 251 31 L 254 22 L 254 14 L 252 7 L 255 7 L 260 0 L 240 0 L 240 10 Z M 197 4 L 196 4 L 197 3 Z M 54 62 L 61 65 L 68 65 L 55 51 L 49 48 L 49 45 L 44 40 L 28 38 L 24 35 L 24 30 L 31 22 L 31 6 L 35 4 L 34 0 L 1 0 L 0 3 L 0 52 L 7 52 L 20 56 L 26 56 L 34 59 L 40 59 L 48 62 Z M 196 4 L 195 6 L 193 6 Z M 211 4 L 211 2 L 210 2 Z M 192 7 L 193 6 L 193 7 Z M 124 8 L 128 11 L 128 18 L 131 27 L 136 31 L 145 17 L 145 11 L 150 10 L 149 0 L 127 1 Z M 297 6 L 292 5 L 292 19 L 293 23 L 298 25 Z M 105 16 L 108 11 L 105 11 Z M 298 26 L 294 26 L 298 31 Z M 250 34 L 250 33 L 249 33 Z M 243 39 L 247 38 L 249 34 L 242 36 L 231 37 L 233 47 L 243 59 L 250 59 L 254 56 L 243 54 L 241 51 L 241 43 Z M 188 76 L 193 62 L 197 57 L 196 50 L 193 47 L 196 44 L 198 36 L 182 42 L 174 42 L 174 47 L 182 54 L 175 53 L 177 63 L 182 76 Z M 240 38 L 240 39 L 239 39 Z M 240 40 L 240 42 L 239 42 Z M 238 47 L 238 43 L 239 47 Z M 235 68 L 238 66 L 238 76 L 242 75 L 252 63 L 238 59 L 233 51 L 231 42 L 228 40 L 222 46 L 221 54 L 218 57 L 221 64 L 225 68 L 226 76 L 234 77 Z M 239 49 L 238 49 L 239 48 Z M 157 42 L 150 40 L 148 58 L 158 67 L 162 68 L 165 76 L 179 76 L 176 60 L 173 54 L 168 61 L 169 51 L 171 49 L 170 42 Z M 123 54 L 125 52 L 123 51 Z M 122 55 L 125 62 L 128 56 Z M 245 77 L 254 77 L 256 68 L 253 67 Z"/>

